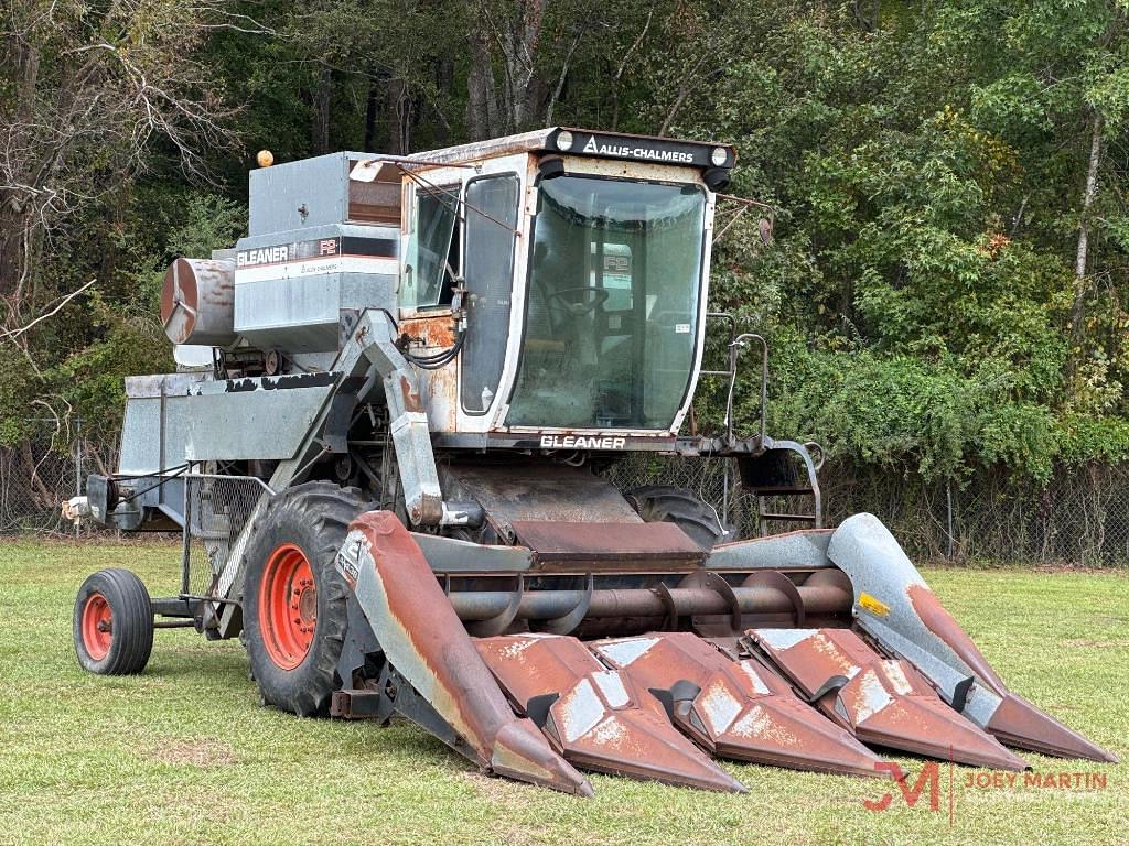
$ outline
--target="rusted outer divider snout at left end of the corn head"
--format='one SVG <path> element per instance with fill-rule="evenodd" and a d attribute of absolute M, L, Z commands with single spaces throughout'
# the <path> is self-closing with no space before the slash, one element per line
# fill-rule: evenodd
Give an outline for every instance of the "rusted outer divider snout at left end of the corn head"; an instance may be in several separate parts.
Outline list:
<path fill-rule="evenodd" d="M 531 723 L 514 715 L 419 546 L 394 514 L 358 517 L 338 569 L 388 662 L 462 739 L 456 751 L 500 775 L 592 795 L 588 781 Z"/>

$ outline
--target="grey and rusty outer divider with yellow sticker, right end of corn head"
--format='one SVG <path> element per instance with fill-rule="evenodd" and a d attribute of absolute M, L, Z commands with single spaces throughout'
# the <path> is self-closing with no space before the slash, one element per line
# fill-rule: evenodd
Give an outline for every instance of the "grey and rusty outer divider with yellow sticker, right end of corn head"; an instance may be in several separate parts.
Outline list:
<path fill-rule="evenodd" d="M 876 517 L 844 520 L 832 535 L 828 556 L 850 578 L 859 628 L 912 663 L 963 716 L 1010 746 L 1117 760 L 1007 689 Z M 816 575 L 824 572 L 834 571 Z"/>

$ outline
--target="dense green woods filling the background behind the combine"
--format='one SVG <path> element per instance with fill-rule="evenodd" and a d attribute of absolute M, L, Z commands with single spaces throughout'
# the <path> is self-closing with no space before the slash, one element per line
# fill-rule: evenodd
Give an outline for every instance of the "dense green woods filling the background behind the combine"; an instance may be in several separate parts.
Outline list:
<path fill-rule="evenodd" d="M 1129 458 L 1126 0 L 9 7 L 0 439 L 114 431 L 168 363 L 163 266 L 238 235 L 255 150 L 555 123 L 737 144 L 776 239 L 734 222 L 714 305 L 773 346 L 770 431 L 927 477 Z"/>

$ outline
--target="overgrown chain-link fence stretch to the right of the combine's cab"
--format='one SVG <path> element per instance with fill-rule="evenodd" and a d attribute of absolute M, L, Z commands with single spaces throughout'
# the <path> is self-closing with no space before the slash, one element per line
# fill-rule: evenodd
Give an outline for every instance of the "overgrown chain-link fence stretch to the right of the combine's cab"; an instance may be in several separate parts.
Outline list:
<path fill-rule="evenodd" d="M 743 493 L 736 462 L 632 456 L 607 477 L 622 490 L 673 485 L 711 503 L 742 538 L 758 537 L 758 500 Z M 820 472 L 824 525 L 877 515 L 917 561 L 1129 566 L 1129 466 L 1061 468 L 1045 485 L 980 472 L 960 481 L 829 462 Z M 809 511 L 808 497 L 767 497 L 772 512 Z M 807 528 L 772 521 L 767 531 Z"/>

